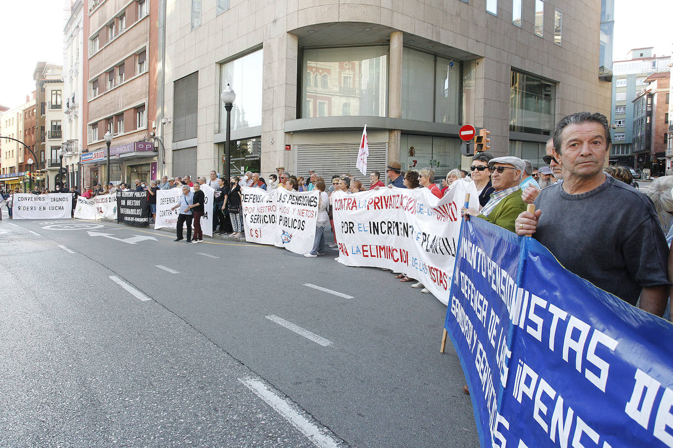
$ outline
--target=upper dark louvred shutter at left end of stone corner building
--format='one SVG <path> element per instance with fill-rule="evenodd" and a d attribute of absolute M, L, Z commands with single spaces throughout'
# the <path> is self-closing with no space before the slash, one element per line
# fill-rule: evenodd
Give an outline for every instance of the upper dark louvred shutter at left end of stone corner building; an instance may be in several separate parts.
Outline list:
<path fill-rule="evenodd" d="M 199 73 L 175 81 L 173 94 L 173 141 L 197 138 Z"/>

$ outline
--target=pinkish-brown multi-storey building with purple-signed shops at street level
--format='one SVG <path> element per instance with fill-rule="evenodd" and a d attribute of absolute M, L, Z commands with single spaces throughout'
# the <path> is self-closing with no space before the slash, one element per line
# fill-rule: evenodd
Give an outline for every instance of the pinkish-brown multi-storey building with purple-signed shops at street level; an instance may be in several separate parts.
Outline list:
<path fill-rule="evenodd" d="M 160 1 L 87 0 L 83 17 L 82 187 L 155 177 Z M 110 154 L 104 136 L 112 134 Z M 108 155 L 110 177 L 107 177 Z"/>

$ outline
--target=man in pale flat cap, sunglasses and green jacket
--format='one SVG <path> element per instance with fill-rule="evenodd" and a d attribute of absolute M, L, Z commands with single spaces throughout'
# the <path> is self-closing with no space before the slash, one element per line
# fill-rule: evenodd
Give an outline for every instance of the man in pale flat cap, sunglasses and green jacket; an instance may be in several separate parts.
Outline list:
<path fill-rule="evenodd" d="M 521 173 L 526 163 L 514 156 L 496 157 L 489 161 L 491 183 L 495 191 L 491 199 L 481 209 L 481 213 L 474 208 L 463 208 L 466 216 L 472 215 L 492 222 L 496 226 L 515 232 L 516 217 L 526 210 L 526 203 L 521 198 Z"/>

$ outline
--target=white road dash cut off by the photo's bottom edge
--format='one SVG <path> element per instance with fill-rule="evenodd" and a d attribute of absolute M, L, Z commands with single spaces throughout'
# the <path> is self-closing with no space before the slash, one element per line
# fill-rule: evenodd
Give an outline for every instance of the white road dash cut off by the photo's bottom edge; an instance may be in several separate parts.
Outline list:
<path fill-rule="evenodd" d="M 246 387 L 256 396 L 267 402 L 273 410 L 281 414 L 285 420 L 290 422 L 293 427 L 302 432 L 316 447 L 320 448 L 338 448 L 341 443 L 326 433 L 326 429 L 318 427 L 317 422 L 311 421 L 302 413 L 295 410 L 293 406 L 284 400 L 275 390 L 270 386 L 264 384 L 259 379 L 239 378 L 238 381 L 246 385 Z"/>

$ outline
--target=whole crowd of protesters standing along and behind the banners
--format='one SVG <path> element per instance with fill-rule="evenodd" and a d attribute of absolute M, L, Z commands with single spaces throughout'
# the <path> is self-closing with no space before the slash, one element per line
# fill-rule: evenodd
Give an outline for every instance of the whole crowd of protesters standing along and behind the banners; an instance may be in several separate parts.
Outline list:
<path fill-rule="evenodd" d="M 441 183 L 435 183 L 431 168 L 402 171 L 399 163 L 386 166 L 388 187 L 427 188 L 443 197 L 458 179 L 473 182 L 479 195 L 479 208 L 463 208 L 464 218 L 480 218 L 518 235 L 536 238 L 569 271 L 588 279 L 614 296 L 643 310 L 670 319 L 670 286 L 673 280 L 673 257 L 669 257 L 673 240 L 673 176 L 656 179 L 648 195 L 631 186 L 633 177 L 624 167 L 606 167 L 610 152 L 610 125 L 602 114 L 579 112 L 561 119 L 553 137 L 546 144 L 547 165 L 533 167 L 529 161 L 515 156 L 493 157 L 479 152 L 472 157 L 470 171 L 454 169 Z M 332 207 L 334 191 L 347 194 L 365 188 L 352 175 L 332 175 L 325 181 L 314 171 L 297 177 L 277 167 L 277 174 L 268 180 L 259 173 L 246 172 L 223 179 L 216 171 L 209 177 L 162 177 L 161 181 L 136 180 L 126 183 L 86 187 L 83 197 L 94 197 L 116 191 L 146 191 L 155 218 L 156 195 L 159 189 L 182 189 L 174 205 L 179 209 L 176 241 L 182 240 L 182 222 L 187 224 L 187 242 L 203 240 L 200 218 L 205 212 L 201 185 L 215 190 L 213 232 L 240 237 L 244 232 L 241 210 L 242 187 L 264 190 L 283 188 L 287 191 L 320 191 L 318 224 L 314 247 L 306 257 L 324 255 L 324 230 L 329 225 L 337 246 Z M 369 189 L 386 187 L 381 173 L 369 174 Z M 328 185 L 328 186 L 327 186 Z M 65 188 L 64 188 L 65 190 Z M 61 192 L 59 187 L 54 192 Z M 77 195 L 73 193 L 73 207 Z M 0 195 L 11 217 L 13 194 Z M 526 211 L 534 204 L 536 211 Z M 1 208 L 0 208 L 1 210 Z M 0 212 L 1 213 L 1 212 Z M 1 219 L 1 214 L 0 214 Z M 193 225 L 193 236 L 192 236 Z M 397 273 L 400 281 L 413 281 L 407 273 Z M 419 281 L 413 287 L 423 288 Z M 666 313 L 666 314 L 665 314 Z"/>

